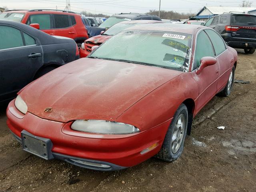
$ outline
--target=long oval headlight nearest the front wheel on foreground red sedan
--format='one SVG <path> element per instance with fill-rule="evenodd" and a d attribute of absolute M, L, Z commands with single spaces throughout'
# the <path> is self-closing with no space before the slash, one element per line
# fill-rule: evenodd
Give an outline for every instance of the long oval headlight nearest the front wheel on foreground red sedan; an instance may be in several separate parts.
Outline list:
<path fill-rule="evenodd" d="M 140 130 L 132 125 L 104 120 L 76 120 L 71 129 L 98 134 L 129 134 Z"/>

